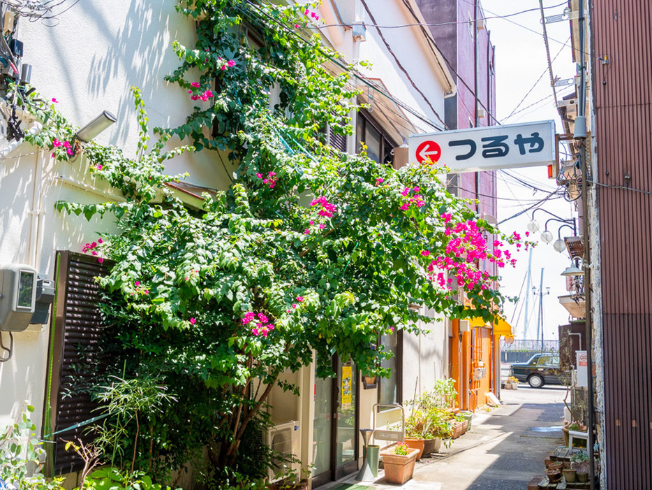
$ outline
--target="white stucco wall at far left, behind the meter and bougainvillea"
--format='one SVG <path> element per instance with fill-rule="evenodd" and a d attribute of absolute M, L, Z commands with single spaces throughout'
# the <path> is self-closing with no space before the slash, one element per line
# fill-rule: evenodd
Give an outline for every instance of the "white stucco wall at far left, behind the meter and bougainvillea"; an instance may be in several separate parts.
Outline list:
<path fill-rule="evenodd" d="M 179 66 L 172 41 L 193 45 L 195 38 L 193 22 L 177 13 L 176 3 L 80 2 L 57 17 L 54 27 L 21 19 L 17 38 L 24 43 L 23 62 L 33 66 L 31 84 L 45 100 L 56 98 L 57 109 L 71 124 L 83 126 L 102 110 L 117 116 L 117 123 L 96 141 L 135 154 L 138 124 L 131 85 L 142 89 L 151 129 L 181 124 L 194 104 L 177 85 L 164 80 Z M 5 145 L 0 139 L 0 147 Z M 108 217 L 87 222 L 84 217 L 62 215 L 54 203 L 101 203 L 111 196 L 89 189 L 103 185 L 93 182 L 84 159 L 55 162 L 49 152 L 35 151 L 22 145 L 0 159 L 0 264 L 27 263 L 53 279 L 56 250 L 81 252 L 84 243 L 96 240 L 98 231 L 112 227 Z M 214 152 L 188 154 L 172 160 L 168 172 L 187 171 L 188 182 L 223 189 L 228 179 L 216 161 Z M 40 424 L 48 330 L 29 327 L 15 333 L 13 358 L 0 363 L 0 393 L 6 394 L 0 397 L 0 425 L 25 401 L 36 407 L 34 419 Z M 8 333 L 3 333 L 3 343 L 8 345 Z"/>

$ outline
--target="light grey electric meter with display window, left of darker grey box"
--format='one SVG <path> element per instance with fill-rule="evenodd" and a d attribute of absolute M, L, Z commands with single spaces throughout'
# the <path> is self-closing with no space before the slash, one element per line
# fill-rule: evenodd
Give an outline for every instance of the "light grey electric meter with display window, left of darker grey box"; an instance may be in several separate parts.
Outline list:
<path fill-rule="evenodd" d="M 22 332 L 36 309 L 36 269 L 24 264 L 0 266 L 0 330 Z"/>

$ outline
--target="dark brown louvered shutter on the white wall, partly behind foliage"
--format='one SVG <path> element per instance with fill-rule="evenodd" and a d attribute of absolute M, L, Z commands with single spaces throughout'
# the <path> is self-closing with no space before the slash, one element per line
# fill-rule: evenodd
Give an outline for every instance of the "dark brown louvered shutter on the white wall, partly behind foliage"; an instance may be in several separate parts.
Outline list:
<path fill-rule="evenodd" d="M 89 442 L 87 426 L 61 434 L 58 431 L 97 417 L 97 405 L 88 394 L 73 390 L 73 380 L 88 381 L 97 360 L 98 340 L 101 336 L 101 301 L 98 275 L 108 273 L 108 263 L 97 257 L 69 251 L 57 252 L 57 295 L 52 310 L 49 366 L 45 387 L 43 436 L 54 439 L 46 443 L 46 475 L 64 475 L 79 471 L 84 462 L 73 451 L 66 451 L 62 440 L 81 438 Z M 48 403 L 49 401 L 49 403 Z M 47 435 L 54 433 L 50 438 Z"/>

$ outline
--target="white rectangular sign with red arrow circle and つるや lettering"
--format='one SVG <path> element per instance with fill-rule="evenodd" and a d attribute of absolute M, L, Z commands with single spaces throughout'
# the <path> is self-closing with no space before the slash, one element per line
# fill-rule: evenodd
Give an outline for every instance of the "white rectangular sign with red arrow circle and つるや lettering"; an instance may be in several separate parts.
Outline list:
<path fill-rule="evenodd" d="M 411 162 L 452 173 L 549 165 L 556 159 L 554 121 L 490 126 L 410 136 Z"/>

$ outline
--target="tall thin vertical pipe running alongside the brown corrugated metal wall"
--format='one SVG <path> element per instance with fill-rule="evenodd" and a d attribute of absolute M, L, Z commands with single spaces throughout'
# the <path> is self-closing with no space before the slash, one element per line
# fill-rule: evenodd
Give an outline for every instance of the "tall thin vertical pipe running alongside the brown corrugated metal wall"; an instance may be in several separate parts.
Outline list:
<path fill-rule="evenodd" d="M 579 106 L 577 119 L 575 120 L 575 139 L 579 140 L 582 178 L 581 178 L 581 201 L 583 214 L 583 235 L 584 235 L 584 296 L 586 305 L 586 369 L 588 370 L 588 475 L 591 490 L 595 489 L 595 454 L 593 444 L 595 437 L 595 403 L 593 400 L 593 321 L 591 315 L 591 242 L 589 240 L 588 228 L 588 161 L 586 161 L 586 62 L 584 59 L 584 0 L 579 1 Z"/>

